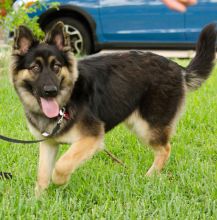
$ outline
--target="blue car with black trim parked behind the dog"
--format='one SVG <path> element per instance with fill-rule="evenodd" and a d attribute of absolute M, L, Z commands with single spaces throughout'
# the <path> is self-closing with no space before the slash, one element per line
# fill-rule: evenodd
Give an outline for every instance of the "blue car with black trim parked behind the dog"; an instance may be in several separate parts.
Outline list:
<path fill-rule="evenodd" d="M 15 7 L 33 1 L 18 0 Z M 172 11 L 160 0 L 58 2 L 58 10 L 44 9 L 34 15 L 39 16 L 45 31 L 55 22 L 63 21 L 77 54 L 114 48 L 192 48 L 201 28 L 217 20 L 217 1 L 214 0 L 198 0 L 186 13 Z"/>

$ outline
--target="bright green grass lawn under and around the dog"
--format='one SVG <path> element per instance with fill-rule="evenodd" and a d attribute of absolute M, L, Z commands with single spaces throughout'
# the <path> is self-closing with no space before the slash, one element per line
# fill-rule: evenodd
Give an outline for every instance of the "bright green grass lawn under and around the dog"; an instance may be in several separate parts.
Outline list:
<path fill-rule="evenodd" d="M 6 52 L 0 59 L 0 134 L 31 139 L 9 83 L 8 63 Z M 37 145 L 0 141 L 0 171 L 14 175 L 12 181 L 0 180 L 0 219 L 217 219 L 216 85 L 215 68 L 202 88 L 188 94 L 170 161 L 153 178 L 145 177 L 152 152 L 120 125 L 107 134 L 105 143 L 127 170 L 101 152 L 80 167 L 66 187 L 51 185 L 37 201 Z M 63 146 L 60 154 L 66 149 Z"/>

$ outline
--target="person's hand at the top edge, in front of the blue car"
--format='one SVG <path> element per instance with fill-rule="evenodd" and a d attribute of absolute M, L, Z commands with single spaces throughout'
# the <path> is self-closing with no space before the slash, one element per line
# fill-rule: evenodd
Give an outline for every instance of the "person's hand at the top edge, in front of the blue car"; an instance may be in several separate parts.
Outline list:
<path fill-rule="evenodd" d="M 187 7 L 196 4 L 197 0 L 162 0 L 162 2 L 172 10 L 185 12 Z"/>

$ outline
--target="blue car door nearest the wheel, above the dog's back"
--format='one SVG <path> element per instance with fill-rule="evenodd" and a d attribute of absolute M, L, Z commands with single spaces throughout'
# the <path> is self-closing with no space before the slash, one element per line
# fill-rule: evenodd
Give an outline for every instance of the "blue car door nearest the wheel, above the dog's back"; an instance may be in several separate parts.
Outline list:
<path fill-rule="evenodd" d="M 99 0 L 103 42 L 185 41 L 184 14 L 160 0 Z"/>

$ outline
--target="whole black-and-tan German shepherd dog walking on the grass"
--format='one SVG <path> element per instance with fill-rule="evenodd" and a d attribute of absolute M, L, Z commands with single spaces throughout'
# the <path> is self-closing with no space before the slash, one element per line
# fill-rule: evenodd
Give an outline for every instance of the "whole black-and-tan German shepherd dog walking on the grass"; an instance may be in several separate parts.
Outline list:
<path fill-rule="evenodd" d="M 36 138 L 59 129 L 40 144 L 36 195 L 71 173 L 103 147 L 104 134 L 125 122 L 155 153 L 147 176 L 159 172 L 185 102 L 214 65 L 216 25 L 200 34 L 196 56 L 183 68 L 162 56 L 140 51 L 87 56 L 76 61 L 61 22 L 39 42 L 25 26 L 15 34 L 12 81 Z M 61 110 L 65 113 L 61 114 Z M 58 145 L 71 144 L 55 162 Z"/>

